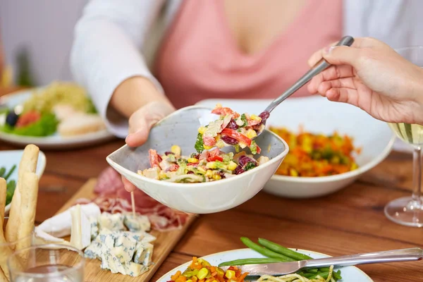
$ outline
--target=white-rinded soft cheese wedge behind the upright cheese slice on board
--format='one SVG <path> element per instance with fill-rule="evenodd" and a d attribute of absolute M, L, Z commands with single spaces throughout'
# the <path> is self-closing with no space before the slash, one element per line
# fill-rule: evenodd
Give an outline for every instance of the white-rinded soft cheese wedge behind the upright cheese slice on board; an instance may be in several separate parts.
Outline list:
<path fill-rule="evenodd" d="M 76 206 L 70 207 L 69 209 L 66 209 L 65 212 L 61 212 L 60 214 L 56 214 L 50 219 L 45 220 L 43 223 L 39 224 L 39 226 L 35 227 L 35 231 L 41 230 L 54 237 L 66 237 L 71 235 L 71 210 L 75 209 L 75 207 Z M 101 214 L 99 206 L 94 203 L 81 204 L 80 209 L 88 217 L 97 218 Z"/>

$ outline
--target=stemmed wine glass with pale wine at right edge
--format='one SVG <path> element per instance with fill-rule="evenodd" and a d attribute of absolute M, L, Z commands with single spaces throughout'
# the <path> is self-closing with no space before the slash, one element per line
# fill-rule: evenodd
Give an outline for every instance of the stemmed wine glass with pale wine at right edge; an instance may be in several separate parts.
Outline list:
<path fill-rule="evenodd" d="M 396 49 L 398 54 L 423 68 L 423 46 Z M 421 93 L 423 94 L 423 93 Z M 389 202 L 385 215 L 391 221 L 405 226 L 423 226 L 422 197 L 422 146 L 423 126 L 410 123 L 388 123 L 394 133 L 413 147 L 412 196 L 402 197 Z"/>

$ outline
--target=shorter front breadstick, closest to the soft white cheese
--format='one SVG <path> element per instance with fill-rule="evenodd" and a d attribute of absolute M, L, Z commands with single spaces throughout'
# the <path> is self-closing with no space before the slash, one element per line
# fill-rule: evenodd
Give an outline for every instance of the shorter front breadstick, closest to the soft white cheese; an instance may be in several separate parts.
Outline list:
<path fill-rule="evenodd" d="M 31 240 L 28 238 L 34 231 L 35 210 L 37 209 L 38 176 L 32 172 L 23 174 L 20 182 L 20 221 L 17 230 L 16 251 L 30 247 Z M 26 255 L 20 257 L 22 262 L 26 261 Z"/>

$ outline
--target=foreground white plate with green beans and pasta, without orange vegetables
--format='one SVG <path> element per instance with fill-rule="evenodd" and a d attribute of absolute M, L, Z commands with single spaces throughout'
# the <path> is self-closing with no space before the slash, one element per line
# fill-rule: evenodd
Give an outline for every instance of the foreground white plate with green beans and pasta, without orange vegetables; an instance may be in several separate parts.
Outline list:
<path fill-rule="evenodd" d="M 241 241 L 248 247 L 246 249 L 230 250 L 218 252 L 213 255 L 202 257 L 212 266 L 235 266 L 245 264 L 267 264 L 272 262 L 293 262 L 302 259 L 320 259 L 330 257 L 329 255 L 313 252 L 310 250 L 300 250 L 283 247 L 277 243 L 259 238 L 258 243 L 252 242 L 249 238 L 241 238 Z M 191 262 L 182 264 L 172 269 L 167 274 L 159 278 L 158 282 L 173 281 L 171 276 L 180 271 L 182 275 L 190 274 L 187 271 Z M 189 281 L 190 277 L 186 277 Z M 225 280 L 226 281 L 226 280 Z M 231 279 L 228 278 L 228 281 Z M 268 281 L 268 282 L 372 282 L 372 278 L 355 266 L 332 269 L 332 267 L 320 269 L 307 269 L 298 271 L 296 274 L 286 276 L 247 276 L 245 281 Z M 177 282 L 177 281 L 174 281 Z"/>

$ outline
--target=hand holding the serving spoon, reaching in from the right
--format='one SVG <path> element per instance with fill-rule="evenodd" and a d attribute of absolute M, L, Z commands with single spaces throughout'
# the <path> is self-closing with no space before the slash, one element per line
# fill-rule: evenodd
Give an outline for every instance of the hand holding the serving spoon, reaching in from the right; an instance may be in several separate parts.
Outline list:
<path fill-rule="evenodd" d="M 333 64 L 308 85 L 331 101 L 358 106 L 382 121 L 423 124 L 423 69 L 387 44 L 357 38 L 351 47 L 326 47 L 309 59 Z"/>

